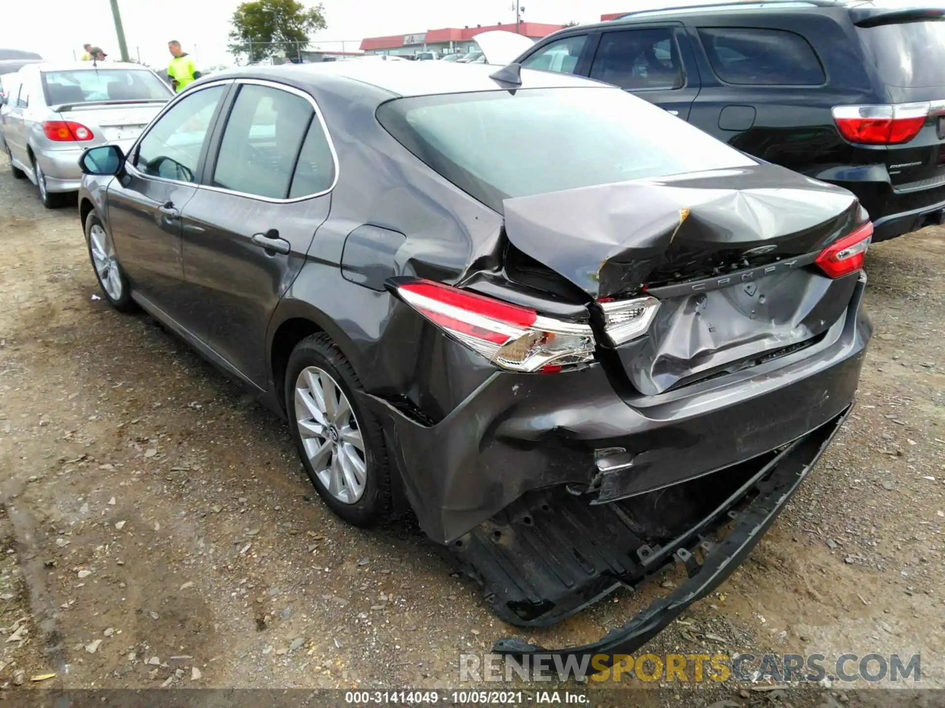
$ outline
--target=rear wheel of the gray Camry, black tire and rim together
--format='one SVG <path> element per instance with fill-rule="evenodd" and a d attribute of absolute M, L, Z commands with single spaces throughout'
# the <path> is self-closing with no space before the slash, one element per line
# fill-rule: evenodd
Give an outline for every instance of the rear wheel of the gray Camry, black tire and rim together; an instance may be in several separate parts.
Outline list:
<path fill-rule="evenodd" d="M 329 509 L 353 526 L 370 527 L 392 519 L 394 505 L 384 434 L 359 404 L 362 390 L 328 335 L 313 334 L 292 350 L 285 409 L 301 464 Z"/>

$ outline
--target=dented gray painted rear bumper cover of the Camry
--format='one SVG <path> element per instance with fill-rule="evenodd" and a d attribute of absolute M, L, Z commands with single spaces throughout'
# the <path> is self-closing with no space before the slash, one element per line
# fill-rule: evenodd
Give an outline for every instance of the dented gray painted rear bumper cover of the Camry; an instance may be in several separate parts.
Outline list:
<path fill-rule="evenodd" d="M 661 396 L 628 401 L 594 364 L 560 376 L 493 372 L 438 422 L 361 400 L 421 528 L 455 544 L 530 491 L 591 485 L 601 450 L 634 455 L 631 468 L 600 475 L 598 502 L 611 502 L 746 462 L 833 420 L 853 400 L 872 331 L 865 290 L 861 276 L 832 338 Z"/>

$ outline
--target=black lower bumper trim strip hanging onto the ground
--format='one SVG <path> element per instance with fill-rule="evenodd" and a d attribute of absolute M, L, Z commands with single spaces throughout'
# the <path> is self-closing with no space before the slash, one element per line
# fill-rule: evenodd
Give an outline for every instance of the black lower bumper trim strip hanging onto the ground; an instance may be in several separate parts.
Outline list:
<path fill-rule="evenodd" d="M 594 662 L 597 666 L 613 666 L 623 655 L 642 647 L 696 600 L 708 596 L 741 565 L 814 468 L 851 409 L 852 405 L 829 423 L 791 443 L 712 514 L 673 543 L 657 549 L 650 560 L 659 559 L 662 563 L 653 563 L 647 577 L 680 562 L 686 566 L 689 579 L 671 594 L 655 600 L 626 625 L 611 630 L 593 644 L 578 647 L 546 649 L 521 639 L 500 639 L 493 651 L 519 659 L 537 655 L 558 656 L 564 660 L 575 657 L 578 666 L 586 669 L 591 662 L 585 659 L 597 657 Z M 733 527 L 720 542 L 708 541 L 705 531 L 726 517 L 733 520 Z M 689 548 L 705 551 L 701 564 Z"/>

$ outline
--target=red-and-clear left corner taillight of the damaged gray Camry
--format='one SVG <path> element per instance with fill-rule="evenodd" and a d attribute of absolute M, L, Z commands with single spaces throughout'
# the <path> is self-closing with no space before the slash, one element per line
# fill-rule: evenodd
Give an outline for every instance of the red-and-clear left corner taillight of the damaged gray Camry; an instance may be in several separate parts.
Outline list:
<path fill-rule="evenodd" d="M 511 371 L 554 373 L 591 362 L 589 325 L 543 317 L 538 312 L 431 280 L 390 286 L 407 305 L 462 345 Z"/>

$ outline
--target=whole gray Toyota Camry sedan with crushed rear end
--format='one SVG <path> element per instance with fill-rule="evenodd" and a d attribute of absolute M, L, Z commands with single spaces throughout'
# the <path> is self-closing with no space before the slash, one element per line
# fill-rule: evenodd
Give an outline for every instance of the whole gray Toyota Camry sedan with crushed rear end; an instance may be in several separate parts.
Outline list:
<path fill-rule="evenodd" d="M 853 404 L 855 197 L 603 84 L 246 67 L 82 166 L 108 300 L 287 417 L 342 518 L 412 510 L 524 627 L 685 566 L 558 654 L 628 653 L 708 594 Z"/>

